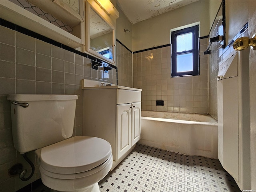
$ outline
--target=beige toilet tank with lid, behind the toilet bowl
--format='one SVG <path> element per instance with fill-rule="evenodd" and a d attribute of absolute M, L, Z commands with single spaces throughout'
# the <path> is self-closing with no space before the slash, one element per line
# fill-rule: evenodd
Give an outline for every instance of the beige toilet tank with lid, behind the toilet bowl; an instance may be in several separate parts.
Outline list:
<path fill-rule="evenodd" d="M 14 147 L 20 153 L 72 136 L 77 95 L 9 94 L 7 99 L 11 101 Z"/>

